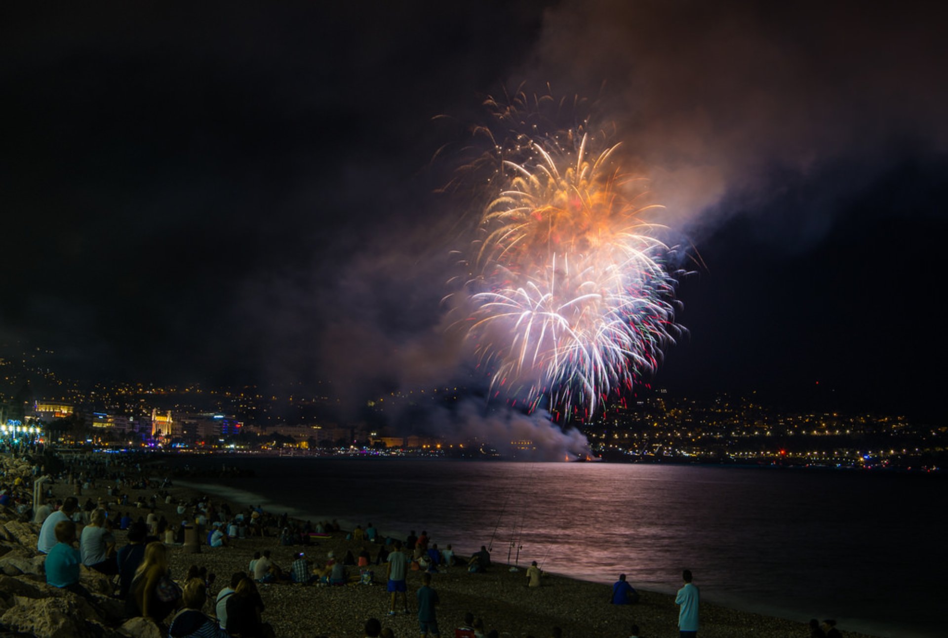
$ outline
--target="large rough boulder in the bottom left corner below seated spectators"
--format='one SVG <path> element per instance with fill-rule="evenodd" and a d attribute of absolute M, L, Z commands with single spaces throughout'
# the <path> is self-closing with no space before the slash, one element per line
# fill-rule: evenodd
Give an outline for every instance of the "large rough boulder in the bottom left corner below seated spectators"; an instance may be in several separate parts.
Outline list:
<path fill-rule="evenodd" d="M 37 638 L 94 638 L 99 631 L 99 613 L 76 595 L 56 598 L 14 596 L 14 605 L 0 616 L 9 629 L 32 633 Z"/>

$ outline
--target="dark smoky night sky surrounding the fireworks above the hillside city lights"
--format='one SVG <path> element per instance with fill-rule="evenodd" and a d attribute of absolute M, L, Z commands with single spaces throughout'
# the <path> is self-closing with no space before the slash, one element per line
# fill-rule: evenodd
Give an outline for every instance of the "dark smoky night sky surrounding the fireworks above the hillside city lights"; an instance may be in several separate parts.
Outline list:
<path fill-rule="evenodd" d="M 935 3 L 44 4 L 0 33 L 0 337 L 82 378 L 447 379 L 481 101 L 599 99 L 694 245 L 656 383 L 935 413 Z M 447 119 L 432 119 L 439 115 Z M 700 263 L 699 263 L 700 258 Z"/>

